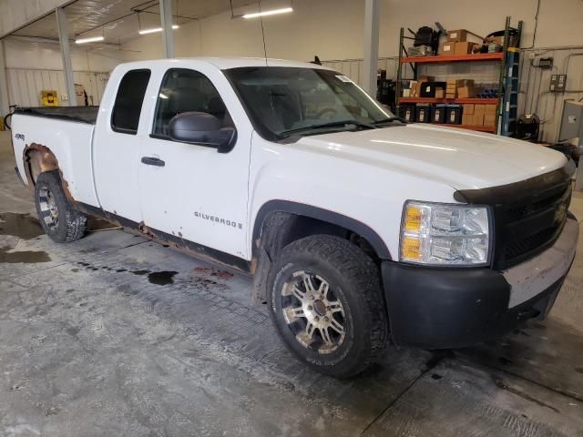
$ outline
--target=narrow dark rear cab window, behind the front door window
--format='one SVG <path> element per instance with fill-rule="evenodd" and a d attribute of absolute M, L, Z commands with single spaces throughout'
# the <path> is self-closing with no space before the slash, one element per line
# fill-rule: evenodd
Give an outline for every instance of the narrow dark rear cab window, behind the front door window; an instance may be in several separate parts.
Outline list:
<path fill-rule="evenodd" d="M 148 88 L 150 70 L 130 70 L 119 82 L 118 95 L 111 114 L 111 128 L 122 134 L 138 133 L 142 103 Z"/>

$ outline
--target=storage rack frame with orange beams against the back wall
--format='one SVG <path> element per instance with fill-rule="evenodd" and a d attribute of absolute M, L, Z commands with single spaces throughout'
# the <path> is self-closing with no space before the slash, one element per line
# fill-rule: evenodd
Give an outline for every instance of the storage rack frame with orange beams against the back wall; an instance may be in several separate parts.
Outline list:
<path fill-rule="evenodd" d="M 517 37 L 515 46 L 520 46 L 520 36 L 522 34 L 522 21 L 517 25 Z M 518 56 L 516 47 L 508 46 L 510 40 L 510 17 L 506 16 L 504 28 L 504 45 L 501 52 L 483 53 L 476 55 L 461 56 L 414 56 L 409 57 L 404 46 L 405 40 L 414 40 L 411 36 L 404 36 L 404 28 L 401 28 L 399 38 L 399 64 L 397 68 L 397 83 L 395 92 L 395 107 L 397 115 L 401 115 L 402 103 L 459 103 L 496 105 L 496 125 L 495 126 L 465 126 L 465 125 L 445 125 L 450 127 L 462 127 L 466 129 L 479 130 L 483 132 L 496 132 L 506 137 L 514 133 L 517 119 L 517 99 L 518 99 Z M 411 65 L 415 80 L 417 78 L 417 64 L 448 64 L 453 62 L 499 62 L 498 92 L 496 98 L 429 98 L 429 97 L 400 97 L 402 90 L 403 67 Z"/>

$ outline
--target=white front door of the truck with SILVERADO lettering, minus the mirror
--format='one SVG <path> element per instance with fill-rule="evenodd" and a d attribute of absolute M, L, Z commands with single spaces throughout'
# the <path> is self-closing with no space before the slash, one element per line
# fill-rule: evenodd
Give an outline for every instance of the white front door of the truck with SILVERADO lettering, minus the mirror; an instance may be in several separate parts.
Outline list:
<path fill-rule="evenodd" d="M 221 96 L 217 89 L 228 93 Z M 204 64 L 197 70 L 170 68 L 154 99 L 151 133 L 140 145 L 138 170 L 145 226 L 250 259 L 246 235 L 251 128 L 238 121 L 244 112 L 227 79 Z M 185 112 L 209 113 L 221 126 L 235 127 L 234 147 L 219 153 L 215 147 L 171 139 L 169 121 Z"/>

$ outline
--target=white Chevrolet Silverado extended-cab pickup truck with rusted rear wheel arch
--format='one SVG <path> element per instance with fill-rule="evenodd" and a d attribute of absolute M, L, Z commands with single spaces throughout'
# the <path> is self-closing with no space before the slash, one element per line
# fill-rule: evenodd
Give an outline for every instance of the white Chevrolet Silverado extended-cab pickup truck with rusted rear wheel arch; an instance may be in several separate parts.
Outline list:
<path fill-rule="evenodd" d="M 98 108 L 18 111 L 13 145 L 52 239 L 89 214 L 247 271 L 281 340 L 336 377 L 388 340 L 464 347 L 545 317 L 577 247 L 562 154 L 405 124 L 312 64 L 124 64 Z"/>

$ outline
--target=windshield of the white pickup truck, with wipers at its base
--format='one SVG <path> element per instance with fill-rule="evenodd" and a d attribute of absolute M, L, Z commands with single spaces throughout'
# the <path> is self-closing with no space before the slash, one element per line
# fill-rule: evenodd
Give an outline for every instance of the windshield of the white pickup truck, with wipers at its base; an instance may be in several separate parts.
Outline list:
<path fill-rule="evenodd" d="M 225 74 L 253 126 L 267 139 L 374 128 L 394 118 L 352 80 L 334 71 L 253 66 Z"/>

